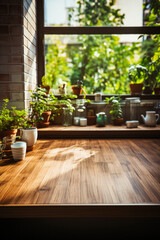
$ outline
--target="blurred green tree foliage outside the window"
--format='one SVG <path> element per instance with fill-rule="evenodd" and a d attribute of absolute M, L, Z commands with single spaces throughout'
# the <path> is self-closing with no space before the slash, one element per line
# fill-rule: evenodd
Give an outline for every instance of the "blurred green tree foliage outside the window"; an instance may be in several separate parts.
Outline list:
<path fill-rule="evenodd" d="M 77 1 L 77 21 L 80 26 L 119 26 L 125 16 L 113 6 L 114 0 Z M 69 25 L 73 11 L 70 10 Z M 157 12 L 151 10 L 151 14 L 155 16 Z M 155 17 L 148 21 L 155 22 Z M 72 46 L 57 40 L 47 50 L 46 77 L 54 88 L 60 81 L 70 86 L 81 80 L 88 94 L 129 94 L 129 67 L 141 64 L 149 68 L 152 62 L 158 64 L 159 40 L 158 35 L 150 37 L 142 41 L 142 46 L 121 43 L 119 37 L 113 35 L 78 35 L 78 44 Z"/>

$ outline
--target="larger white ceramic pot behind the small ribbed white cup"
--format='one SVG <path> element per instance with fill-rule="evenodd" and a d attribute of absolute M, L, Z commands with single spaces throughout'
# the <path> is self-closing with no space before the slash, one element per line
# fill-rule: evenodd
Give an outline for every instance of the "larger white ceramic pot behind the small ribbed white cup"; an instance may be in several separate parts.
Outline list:
<path fill-rule="evenodd" d="M 37 141 L 37 137 L 38 137 L 37 128 L 32 127 L 32 128 L 21 129 L 20 135 L 21 135 L 22 141 L 25 141 L 27 143 L 27 147 L 31 147 Z"/>

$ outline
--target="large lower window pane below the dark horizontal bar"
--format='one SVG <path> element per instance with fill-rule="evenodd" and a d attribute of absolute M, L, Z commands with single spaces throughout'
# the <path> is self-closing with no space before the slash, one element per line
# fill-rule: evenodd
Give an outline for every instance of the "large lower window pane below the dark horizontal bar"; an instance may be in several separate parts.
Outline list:
<path fill-rule="evenodd" d="M 135 81 L 153 88 L 160 82 L 160 35 L 131 36 L 46 35 L 46 79 L 54 93 L 66 82 L 70 94 L 80 80 L 87 94 L 130 94 L 128 70 L 133 64 L 150 69 L 149 78 Z"/>

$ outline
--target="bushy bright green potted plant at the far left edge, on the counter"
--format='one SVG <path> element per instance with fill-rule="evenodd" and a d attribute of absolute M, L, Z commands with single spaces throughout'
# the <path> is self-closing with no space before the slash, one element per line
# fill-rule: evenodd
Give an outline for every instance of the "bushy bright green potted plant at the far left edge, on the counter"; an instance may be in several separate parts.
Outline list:
<path fill-rule="evenodd" d="M 16 107 L 8 108 L 9 99 L 3 99 L 0 110 L 0 138 L 5 136 L 16 136 L 17 129 L 20 128 L 27 115 L 26 110 L 17 110 Z"/>

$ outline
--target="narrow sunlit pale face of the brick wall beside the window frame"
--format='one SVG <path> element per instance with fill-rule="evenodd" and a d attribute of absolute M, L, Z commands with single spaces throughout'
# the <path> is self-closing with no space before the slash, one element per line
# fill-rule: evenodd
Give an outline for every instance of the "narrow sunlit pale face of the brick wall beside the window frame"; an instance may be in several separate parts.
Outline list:
<path fill-rule="evenodd" d="M 24 0 L 23 4 L 24 43 L 24 104 L 29 106 L 30 90 L 37 84 L 36 58 L 36 0 Z"/>

